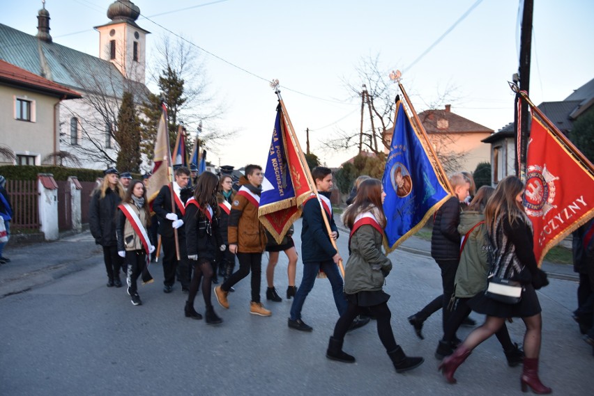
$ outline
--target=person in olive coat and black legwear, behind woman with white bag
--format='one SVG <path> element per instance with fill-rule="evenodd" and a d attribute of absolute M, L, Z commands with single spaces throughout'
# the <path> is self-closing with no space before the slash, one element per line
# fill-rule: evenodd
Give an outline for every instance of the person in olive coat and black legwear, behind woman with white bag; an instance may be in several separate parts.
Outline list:
<path fill-rule="evenodd" d="M 451 355 L 454 351 L 452 342 L 454 342 L 456 331 L 471 312 L 468 301 L 487 288 L 487 275 L 489 274 L 487 255 L 491 244 L 487 236 L 483 211 L 487 200 L 494 191 L 493 187 L 480 187 L 469 207 L 460 214 L 458 232 L 462 236 L 462 244 L 454 284 L 456 302 L 455 308 L 446 322 L 443 338 L 439 340 L 435 351 L 435 357 L 439 360 Z M 503 347 L 508 365 L 510 367 L 519 365 L 524 360 L 524 351 L 512 342 L 508 327 L 503 324 L 495 335 Z"/>

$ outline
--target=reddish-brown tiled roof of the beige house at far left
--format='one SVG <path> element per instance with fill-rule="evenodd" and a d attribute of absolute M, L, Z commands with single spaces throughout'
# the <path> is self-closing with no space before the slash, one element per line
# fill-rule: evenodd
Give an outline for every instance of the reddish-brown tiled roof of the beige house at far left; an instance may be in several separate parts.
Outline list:
<path fill-rule="evenodd" d="M 27 72 L 15 65 L 0 61 L 0 81 L 4 84 L 13 86 L 20 86 L 30 90 L 36 90 L 47 95 L 54 95 L 57 97 L 66 97 L 66 99 L 74 99 L 81 97 L 79 93 L 53 81 L 44 79 L 43 77 Z"/>

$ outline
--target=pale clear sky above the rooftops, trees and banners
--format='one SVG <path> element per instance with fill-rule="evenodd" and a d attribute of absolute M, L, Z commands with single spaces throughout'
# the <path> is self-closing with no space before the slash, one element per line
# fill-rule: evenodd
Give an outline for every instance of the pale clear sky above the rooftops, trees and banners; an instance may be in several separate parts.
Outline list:
<path fill-rule="evenodd" d="M 111 3 L 47 0 L 54 42 L 98 56 L 99 33 L 93 26 L 109 22 L 106 13 Z M 494 130 L 513 120 L 513 95 L 506 81 L 518 68 L 521 2 L 517 0 L 134 3 L 146 17 L 140 17 L 137 24 L 151 31 L 149 67 L 155 43 L 172 35 L 163 28 L 215 55 L 197 49 L 208 73 L 210 93 L 224 103 L 226 111 L 216 125 L 205 123 L 204 129 L 239 131 L 218 154 L 208 155 L 215 164 L 264 165 L 277 104 L 267 81 L 279 79 L 303 148 L 309 127 L 312 152 L 328 166 L 339 166 L 356 152 L 332 152 L 321 141 L 340 129 L 358 131 L 360 100 L 349 99 L 342 81 L 359 84 L 355 69 L 361 58 L 378 54 L 386 78 L 390 70 L 402 70 L 402 84 L 418 112 L 448 87 L 455 87 L 452 111 L 460 116 Z M 40 0 L 5 4 L 0 23 L 35 35 L 40 8 Z M 535 1 L 533 102 L 563 100 L 594 78 L 593 16 L 594 1 Z M 156 92 L 155 85 L 146 82 Z M 188 125 L 190 130 L 195 127 Z"/>

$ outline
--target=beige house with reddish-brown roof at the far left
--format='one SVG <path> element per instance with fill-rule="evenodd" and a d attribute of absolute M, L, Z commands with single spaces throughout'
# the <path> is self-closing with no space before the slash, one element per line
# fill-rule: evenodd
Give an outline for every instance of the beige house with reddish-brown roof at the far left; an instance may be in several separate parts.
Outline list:
<path fill-rule="evenodd" d="M 75 90 L 0 61 L 0 144 L 15 155 L 0 155 L 3 165 L 55 165 L 48 157 L 60 147 L 62 100 L 79 98 Z"/>

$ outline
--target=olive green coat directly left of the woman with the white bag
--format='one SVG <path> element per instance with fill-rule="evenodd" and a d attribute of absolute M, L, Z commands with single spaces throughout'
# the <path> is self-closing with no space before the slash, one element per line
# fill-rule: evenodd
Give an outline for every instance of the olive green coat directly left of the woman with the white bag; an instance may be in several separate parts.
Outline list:
<path fill-rule="evenodd" d="M 485 216 L 481 212 L 462 212 L 458 225 L 460 236 L 464 237 L 466 232 L 484 220 Z M 487 288 L 487 276 L 489 275 L 487 252 L 490 246 L 487 227 L 485 223 L 482 223 L 472 230 L 464 244 L 464 251 L 460 255 L 454 281 L 456 297 L 469 299 Z"/>

